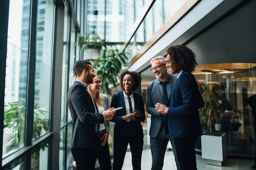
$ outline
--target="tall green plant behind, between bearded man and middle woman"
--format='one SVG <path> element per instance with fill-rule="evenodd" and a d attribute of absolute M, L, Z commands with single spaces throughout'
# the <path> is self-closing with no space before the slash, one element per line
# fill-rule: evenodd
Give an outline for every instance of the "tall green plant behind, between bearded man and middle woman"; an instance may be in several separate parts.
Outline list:
<path fill-rule="evenodd" d="M 112 95 L 111 87 L 117 87 L 119 84 L 118 76 L 121 73 L 122 66 L 127 64 L 128 53 L 119 52 L 116 49 L 107 49 L 103 56 L 92 62 L 95 74 L 101 77 L 101 92 Z"/>

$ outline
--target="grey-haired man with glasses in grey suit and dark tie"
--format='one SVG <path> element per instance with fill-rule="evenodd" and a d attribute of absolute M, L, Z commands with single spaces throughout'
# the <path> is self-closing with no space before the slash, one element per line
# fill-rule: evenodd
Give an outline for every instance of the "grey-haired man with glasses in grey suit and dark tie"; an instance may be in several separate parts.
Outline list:
<path fill-rule="evenodd" d="M 158 56 L 150 61 L 151 71 L 155 74 L 155 79 L 150 82 L 147 87 L 147 97 L 146 97 L 146 110 L 151 115 L 151 125 L 149 130 L 150 135 L 150 148 L 152 154 L 152 170 L 162 170 L 164 166 L 164 154 L 167 148 L 168 141 L 171 141 L 173 146 L 173 152 L 175 153 L 175 145 L 173 143 L 173 138 L 166 135 L 166 116 L 155 110 L 155 104 L 164 104 L 164 95 L 168 98 L 171 94 L 171 89 L 175 84 L 177 78 L 176 76 L 167 73 L 166 59 L 163 56 Z M 166 84 L 164 84 L 164 82 Z M 164 85 L 166 86 L 166 92 L 164 92 Z M 177 161 L 176 161 L 177 162 Z M 178 165 L 177 165 L 178 167 Z"/>

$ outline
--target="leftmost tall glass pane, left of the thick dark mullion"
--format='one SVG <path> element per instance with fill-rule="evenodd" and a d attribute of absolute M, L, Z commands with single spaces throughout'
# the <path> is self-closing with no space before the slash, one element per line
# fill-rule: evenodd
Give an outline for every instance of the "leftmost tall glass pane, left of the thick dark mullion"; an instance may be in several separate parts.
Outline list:
<path fill-rule="evenodd" d="M 30 1 L 10 0 L 4 94 L 3 158 L 24 146 Z"/>

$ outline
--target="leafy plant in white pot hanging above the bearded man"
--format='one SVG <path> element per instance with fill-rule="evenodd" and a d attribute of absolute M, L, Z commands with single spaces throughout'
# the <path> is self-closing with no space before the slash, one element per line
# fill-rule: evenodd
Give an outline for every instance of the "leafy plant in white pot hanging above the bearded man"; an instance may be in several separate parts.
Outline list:
<path fill-rule="evenodd" d="M 87 30 L 83 35 L 81 35 L 75 42 L 79 49 L 83 49 L 83 59 L 84 60 L 96 60 L 100 57 L 100 51 L 103 47 L 106 49 L 107 46 L 111 46 L 110 42 L 106 42 L 102 39 L 95 31 Z"/>

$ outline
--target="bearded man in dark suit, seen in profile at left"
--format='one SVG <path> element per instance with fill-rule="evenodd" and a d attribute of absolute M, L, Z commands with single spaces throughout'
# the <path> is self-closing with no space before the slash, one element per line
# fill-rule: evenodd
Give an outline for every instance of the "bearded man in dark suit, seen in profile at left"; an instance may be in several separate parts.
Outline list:
<path fill-rule="evenodd" d="M 88 92 L 94 69 L 88 61 L 77 61 L 73 67 L 76 80 L 67 92 L 67 105 L 73 120 L 71 152 L 76 170 L 94 170 L 100 146 L 99 124 L 110 120 L 116 111 L 110 108 L 97 112 L 97 105 Z"/>

